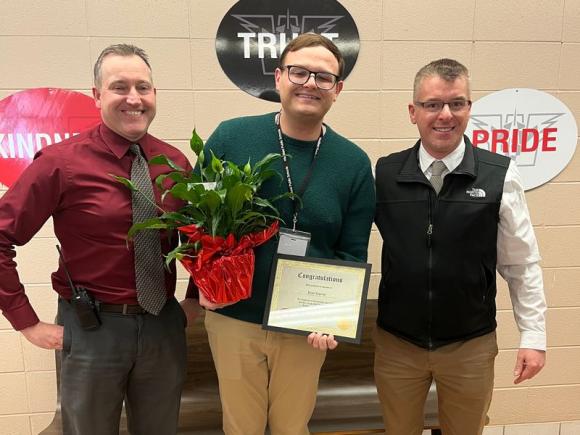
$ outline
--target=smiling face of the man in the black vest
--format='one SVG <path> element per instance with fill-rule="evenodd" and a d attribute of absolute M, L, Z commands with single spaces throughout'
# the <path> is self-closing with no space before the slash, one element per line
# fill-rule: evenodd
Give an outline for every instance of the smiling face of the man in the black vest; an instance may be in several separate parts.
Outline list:
<path fill-rule="evenodd" d="M 415 95 L 415 101 L 421 102 L 456 99 L 470 99 L 469 85 L 464 76 L 453 81 L 446 81 L 437 75 L 425 77 Z M 470 113 L 469 107 L 452 112 L 445 105 L 440 112 L 431 113 L 419 105 L 409 104 L 409 117 L 413 124 L 417 124 L 423 146 L 437 159 L 445 157 L 461 143 Z"/>

